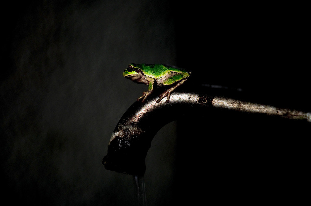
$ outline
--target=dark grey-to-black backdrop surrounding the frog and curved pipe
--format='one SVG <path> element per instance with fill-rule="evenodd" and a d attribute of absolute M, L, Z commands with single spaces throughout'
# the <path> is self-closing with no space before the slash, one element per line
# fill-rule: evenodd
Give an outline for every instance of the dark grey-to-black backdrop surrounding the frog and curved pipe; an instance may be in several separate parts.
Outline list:
<path fill-rule="evenodd" d="M 192 71 L 189 87 L 242 88 L 219 93 L 310 112 L 303 8 L 9 3 L 2 12 L 2 199 L 136 205 L 132 177 L 101 164 L 118 120 L 147 89 L 123 78 L 128 63 L 176 65 Z M 308 132 L 300 121 L 221 111 L 170 123 L 146 157 L 147 204 L 297 201 Z"/>

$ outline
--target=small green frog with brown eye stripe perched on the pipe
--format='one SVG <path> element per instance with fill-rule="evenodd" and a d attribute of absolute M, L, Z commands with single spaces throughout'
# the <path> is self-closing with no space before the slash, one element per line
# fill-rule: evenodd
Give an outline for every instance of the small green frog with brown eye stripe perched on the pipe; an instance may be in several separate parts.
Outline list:
<path fill-rule="evenodd" d="M 138 84 L 148 85 L 148 91 L 143 92 L 137 101 L 144 102 L 152 94 L 155 87 L 169 87 L 160 95 L 156 103 L 160 103 L 166 97 L 169 103 L 171 92 L 182 85 L 190 76 L 191 72 L 184 69 L 169 66 L 165 64 L 129 64 L 128 68 L 123 71 L 123 76 Z"/>

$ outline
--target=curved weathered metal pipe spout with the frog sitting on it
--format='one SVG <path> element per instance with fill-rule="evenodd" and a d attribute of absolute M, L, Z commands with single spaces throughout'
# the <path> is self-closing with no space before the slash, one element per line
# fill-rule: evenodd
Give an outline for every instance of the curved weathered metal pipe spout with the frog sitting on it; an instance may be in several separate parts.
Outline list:
<path fill-rule="evenodd" d="M 131 175 L 144 175 L 145 158 L 151 141 L 164 125 L 183 115 L 204 115 L 209 109 L 236 110 L 260 113 L 281 118 L 300 119 L 311 122 L 311 113 L 281 109 L 221 96 L 208 96 L 194 92 L 174 92 L 169 103 L 153 95 L 142 103 L 136 101 L 122 116 L 112 133 L 108 154 L 102 163 L 107 170 Z"/>

